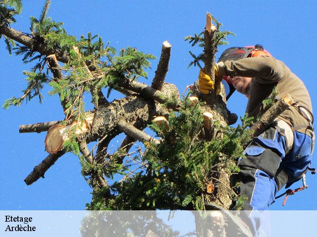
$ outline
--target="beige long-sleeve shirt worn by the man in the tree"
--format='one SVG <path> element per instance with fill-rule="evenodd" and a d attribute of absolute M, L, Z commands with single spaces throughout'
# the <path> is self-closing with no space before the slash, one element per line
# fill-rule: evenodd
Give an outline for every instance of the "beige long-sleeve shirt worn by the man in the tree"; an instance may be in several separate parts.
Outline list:
<path fill-rule="evenodd" d="M 262 109 L 262 101 L 269 97 L 275 86 L 277 98 L 283 98 L 289 93 L 295 102 L 312 112 L 311 98 L 303 81 L 280 60 L 267 56 L 244 58 L 237 61 L 220 62 L 218 68 L 222 76 L 252 78 L 246 108 L 249 116 L 257 117 Z M 297 107 L 290 106 L 278 118 L 286 121 L 294 130 L 306 133 L 310 137 L 313 136 L 313 131 L 307 128 L 308 120 Z"/>

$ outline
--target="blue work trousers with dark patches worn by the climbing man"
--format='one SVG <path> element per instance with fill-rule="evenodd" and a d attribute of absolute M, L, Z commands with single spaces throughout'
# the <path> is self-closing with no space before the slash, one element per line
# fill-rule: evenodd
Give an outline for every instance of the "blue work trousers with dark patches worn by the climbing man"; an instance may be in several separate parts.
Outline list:
<path fill-rule="evenodd" d="M 285 154 L 285 137 L 274 127 L 254 138 L 245 149 L 246 158 L 239 160 L 240 196 L 245 198 L 243 210 L 267 210 L 276 192 L 301 179 L 312 162 L 312 139 L 294 132 L 292 150 Z M 252 212 L 251 212 L 252 213 Z M 251 216 L 247 222 L 255 236 L 260 217 Z"/>

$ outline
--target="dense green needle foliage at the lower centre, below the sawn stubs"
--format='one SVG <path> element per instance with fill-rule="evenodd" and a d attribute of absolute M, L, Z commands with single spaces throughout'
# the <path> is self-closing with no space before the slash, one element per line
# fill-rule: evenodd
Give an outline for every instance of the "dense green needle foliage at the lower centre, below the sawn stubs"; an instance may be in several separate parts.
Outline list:
<path fill-rule="evenodd" d="M 211 141 L 200 137 L 201 105 L 191 106 L 186 99 L 178 112 L 168 116 L 168 127 L 151 125 L 161 138 L 159 145 L 147 143 L 144 157 L 136 157 L 141 172 L 127 176 L 110 187 L 111 197 L 94 193 L 89 209 L 204 209 L 211 200 L 209 182 L 217 184 L 217 166 L 237 172 L 234 161 L 243 155 L 242 143 L 250 139 L 250 118 L 237 128 L 215 122 L 215 132 L 222 134 Z M 142 163 L 142 165 L 141 165 Z M 128 166 L 127 166 L 128 168 Z M 112 170 L 111 172 L 116 172 Z M 219 183 L 218 183 L 219 184 Z"/>

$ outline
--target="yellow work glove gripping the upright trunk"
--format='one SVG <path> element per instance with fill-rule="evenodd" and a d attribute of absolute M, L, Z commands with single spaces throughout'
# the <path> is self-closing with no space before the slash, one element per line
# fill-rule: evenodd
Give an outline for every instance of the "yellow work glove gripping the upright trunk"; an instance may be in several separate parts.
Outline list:
<path fill-rule="evenodd" d="M 199 71 L 199 77 L 198 77 L 198 86 L 199 91 L 203 94 L 208 94 L 211 90 L 215 87 L 215 94 L 218 95 L 220 93 L 220 82 L 222 80 L 222 77 L 219 74 L 218 67 L 214 65 L 214 77 L 215 77 L 215 83 L 211 80 L 211 78 L 204 72 L 204 70 Z"/>

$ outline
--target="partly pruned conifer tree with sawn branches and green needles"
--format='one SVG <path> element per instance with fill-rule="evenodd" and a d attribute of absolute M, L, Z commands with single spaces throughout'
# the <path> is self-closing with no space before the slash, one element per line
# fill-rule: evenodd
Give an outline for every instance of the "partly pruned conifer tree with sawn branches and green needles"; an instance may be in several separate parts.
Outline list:
<path fill-rule="evenodd" d="M 93 188 L 90 210 L 204 210 L 209 202 L 225 209 L 239 207 L 232 174 L 239 171 L 236 160 L 244 157 L 244 146 L 252 136 L 276 117 L 283 106 L 274 105 L 250 129 L 252 118 L 245 117 L 237 128 L 226 108 L 224 93 L 201 94 L 196 85 L 179 98 L 175 85 L 165 83 L 171 45 L 162 45 L 155 78 L 150 85 L 138 82 L 155 56 L 126 47 L 117 50 L 88 33 L 80 39 L 68 35 L 61 22 L 48 17 L 51 1 L 46 0 L 39 18 L 31 17 L 30 32 L 10 27 L 21 12 L 21 0 L 0 0 L 0 38 L 10 54 L 23 55 L 23 62 L 37 62 L 27 77 L 23 96 L 7 99 L 3 107 L 20 106 L 23 101 L 43 100 L 42 89 L 51 86 L 59 97 L 64 119 L 21 125 L 20 132 L 48 132 L 46 149 L 50 154 L 25 178 L 30 185 L 67 152 L 78 155 L 82 175 Z M 192 52 L 190 64 L 213 75 L 217 46 L 226 43 L 230 32 L 208 15 L 201 34 L 185 38 L 202 54 Z M 204 48 L 204 49 L 203 49 Z M 102 89 L 107 89 L 104 95 Z M 124 98 L 108 101 L 112 90 Z M 83 96 L 90 93 L 94 110 L 86 111 Z M 198 101 L 197 101 L 198 98 Z M 267 103 L 267 101 L 266 101 Z M 284 103 L 284 104 L 283 104 Z M 57 106 L 57 105 L 56 105 Z M 272 113 L 273 111 L 273 113 Z M 145 133 L 150 127 L 158 136 Z M 120 133 L 121 146 L 107 153 L 110 141 Z M 136 141 L 144 144 L 130 150 Z M 92 150 L 87 144 L 96 142 Z M 115 180 L 115 175 L 120 180 Z M 110 182 L 109 182 L 110 181 Z M 110 184 L 111 183 L 111 184 Z M 233 202 L 236 200 L 236 202 Z"/>

